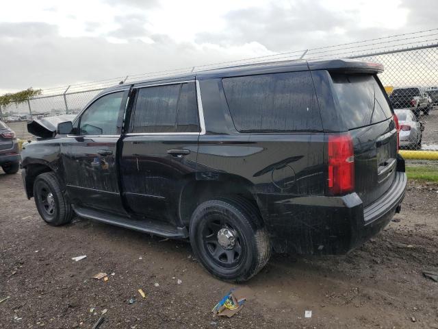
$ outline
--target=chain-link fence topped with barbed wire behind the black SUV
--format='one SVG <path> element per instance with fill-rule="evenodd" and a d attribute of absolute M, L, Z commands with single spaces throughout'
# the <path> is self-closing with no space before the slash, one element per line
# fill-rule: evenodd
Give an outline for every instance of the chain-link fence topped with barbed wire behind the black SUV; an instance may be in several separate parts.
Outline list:
<path fill-rule="evenodd" d="M 119 83 L 131 83 L 221 66 L 274 60 L 331 58 L 355 58 L 383 64 L 385 71 L 379 77 L 398 116 L 401 148 L 423 151 L 425 158 L 430 157 L 430 151 L 437 151 L 434 156 L 438 156 L 438 29 L 333 47 L 291 51 L 233 62 L 142 73 L 52 88 L 43 90 L 41 96 L 29 99 L 25 103 L 12 104 L 8 108 L 1 109 L 1 115 L 18 137 L 29 139 L 32 137 L 27 134 L 25 124 L 27 120 L 60 114 L 76 114 L 101 90 Z"/>

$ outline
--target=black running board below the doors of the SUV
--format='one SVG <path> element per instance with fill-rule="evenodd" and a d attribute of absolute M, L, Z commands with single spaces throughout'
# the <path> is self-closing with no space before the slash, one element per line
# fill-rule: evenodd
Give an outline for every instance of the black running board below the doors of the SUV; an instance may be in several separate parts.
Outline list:
<path fill-rule="evenodd" d="M 100 212 L 88 208 L 72 206 L 76 214 L 86 219 L 101 221 L 102 223 L 129 228 L 144 233 L 150 233 L 157 236 L 163 236 L 170 239 L 186 239 L 189 236 L 187 228 L 175 228 L 168 223 L 159 223 L 158 221 L 136 220 L 128 217 L 118 216 L 107 212 Z"/>

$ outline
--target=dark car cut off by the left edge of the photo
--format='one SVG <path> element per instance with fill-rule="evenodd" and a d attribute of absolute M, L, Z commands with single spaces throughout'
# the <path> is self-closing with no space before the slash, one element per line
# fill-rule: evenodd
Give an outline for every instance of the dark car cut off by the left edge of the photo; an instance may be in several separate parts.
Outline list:
<path fill-rule="evenodd" d="M 20 169 L 20 147 L 15 132 L 3 121 L 0 121 L 0 166 L 5 173 Z"/>

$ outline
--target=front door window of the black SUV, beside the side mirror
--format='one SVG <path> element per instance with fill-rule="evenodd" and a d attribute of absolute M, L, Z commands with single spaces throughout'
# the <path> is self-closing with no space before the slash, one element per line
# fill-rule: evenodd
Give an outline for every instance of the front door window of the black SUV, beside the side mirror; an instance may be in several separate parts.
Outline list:
<path fill-rule="evenodd" d="M 79 122 L 81 135 L 116 135 L 120 134 L 118 119 L 125 92 L 105 95 L 90 105 L 83 112 Z"/>

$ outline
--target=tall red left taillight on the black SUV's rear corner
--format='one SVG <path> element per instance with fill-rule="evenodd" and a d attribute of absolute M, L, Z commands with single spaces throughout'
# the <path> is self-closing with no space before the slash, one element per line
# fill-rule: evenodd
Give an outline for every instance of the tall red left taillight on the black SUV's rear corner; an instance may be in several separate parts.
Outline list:
<path fill-rule="evenodd" d="M 329 135 L 329 179 L 331 195 L 342 195 L 355 188 L 355 154 L 350 134 Z"/>

